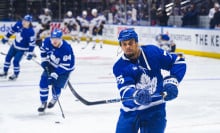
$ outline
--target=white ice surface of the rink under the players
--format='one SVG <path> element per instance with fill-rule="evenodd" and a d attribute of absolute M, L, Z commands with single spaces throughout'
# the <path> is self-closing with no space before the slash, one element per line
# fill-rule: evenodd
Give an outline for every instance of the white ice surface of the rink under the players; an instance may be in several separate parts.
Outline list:
<path fill-rule="evenodd" d="M 92 50 L 89 45 L 83 50 L 83 45 L 72 44 L 76 56 L 76 68 L 70 77 L 72 86 L 89 101 L 119 98 L 112 74 L 112 66 L 119 58 L 118 47 L 104 45 L 100 49 L 97 45 Z M 0 51 L 6 53 L 8 48 L 1 45 Z M 1 71 L 4 58 L 0 55 Z M 179 97 L 167 103 L 166 133 L 220 133 L 220 60 L 186 55 L 186 62 Z M 0 133 L 115 132 L 120 103 L 86 106 L 76 100 L 68 86 L 60 97 L 65 119 L 58 104 L 39 115 L 41 72 L 34 61 L 23 59 L 16 81 L 0 79 Z"/>

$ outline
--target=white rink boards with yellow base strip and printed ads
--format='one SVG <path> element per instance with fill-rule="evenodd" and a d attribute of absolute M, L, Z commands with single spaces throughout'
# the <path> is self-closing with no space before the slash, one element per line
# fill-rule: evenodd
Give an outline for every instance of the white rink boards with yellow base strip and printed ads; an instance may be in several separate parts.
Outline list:
<path fill-rule="evenodd" d="M 0 37 L 2 37 L 15 22 L 0 22 Z M 38 25 L 33 23 L 33 25 Z M 61 28 L 64 38 L 70 39 L 68 30 L 62 23 L 51 23 L 51 30 Z M 198 55 L 212 58 L 220 58 L 219 30 L 177 27 L 150 27 L 150 26 L 127 26 L 105 25 L 103 38 L 105 44 L 118 45 L 118 33 L 125 28 L 134 28 L 139 36 L 141 45 L 156 44 L 155 36 L 167 33 L 177 45 L 177 52 L 190 55 Z M 82 38 L 84 39 L 84 38 Z"/>

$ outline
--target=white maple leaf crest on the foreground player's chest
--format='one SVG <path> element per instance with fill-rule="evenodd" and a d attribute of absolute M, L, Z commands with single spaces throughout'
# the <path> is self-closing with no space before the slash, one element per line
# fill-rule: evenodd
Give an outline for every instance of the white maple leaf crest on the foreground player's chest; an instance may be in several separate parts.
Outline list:
<path fill-rule="evenodd" d="M 154 94 L 157 86 L 157 78 L 153 77 L 152 79 L 143 73 L 140 77 L 140 81 L 136 84 L 137 89 L 148 89 L 150 94 Z"/>

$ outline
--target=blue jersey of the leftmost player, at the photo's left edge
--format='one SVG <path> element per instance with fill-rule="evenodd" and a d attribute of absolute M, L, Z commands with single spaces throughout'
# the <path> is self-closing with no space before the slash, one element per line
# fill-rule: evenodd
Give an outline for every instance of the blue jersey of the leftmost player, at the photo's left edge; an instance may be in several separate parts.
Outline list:
<path fill-rule="evenodd" d="M 16 49 L 33 52 L 35 47 L 35 33 L 32 26 L 24 28 L 22 21 L 18 21 L 11 27 L 6 37 L 9 38 L 12 34 L 16 36 L 13 43 Z"/>

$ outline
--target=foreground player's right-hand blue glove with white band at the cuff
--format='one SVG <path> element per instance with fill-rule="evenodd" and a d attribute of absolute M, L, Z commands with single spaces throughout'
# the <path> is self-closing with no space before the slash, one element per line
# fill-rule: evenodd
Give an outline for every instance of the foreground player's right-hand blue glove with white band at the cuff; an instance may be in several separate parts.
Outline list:
<path fill-rule="evenodd" d="M 178 96 L 178 81 L 173 76 L 168 76 L 164 78 L 163 89 L 165 93 L 165 101 L 170 101 Z"/>

